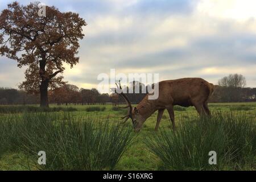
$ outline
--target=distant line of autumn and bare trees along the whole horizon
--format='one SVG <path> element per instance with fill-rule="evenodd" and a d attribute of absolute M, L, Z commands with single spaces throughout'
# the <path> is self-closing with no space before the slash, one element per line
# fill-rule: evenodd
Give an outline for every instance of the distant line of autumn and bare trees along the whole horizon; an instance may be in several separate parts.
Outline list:
<path fill-rule="evenodd" d="M 139 93 L 135 88 L 139 86 Z M 246 88 L 246 80 L 242 75 L 234 74 L 223 77 L 215 85 L 215 91 L 209 102 L 256 102 L 256 88 Z M 133 93 L 126 93 L 133 104 L 138 104 L 147 94 L 147 86 L 133 81 L 123 86 Z M 145 91 L 146 90 L 146 91 Z M 146 93 L 143 93 L 146 92 Z M 97 89 L 79 89 L 76 85 L 64 84 L 48 91 L 49 102 L 57 105 L 94 105 L 123 104 L 125 101 L 117 93 L 100 93 Z M 0 105 L 39 104 L 39 94 L 31 94 L 24 90 L 0 88 Z"/>

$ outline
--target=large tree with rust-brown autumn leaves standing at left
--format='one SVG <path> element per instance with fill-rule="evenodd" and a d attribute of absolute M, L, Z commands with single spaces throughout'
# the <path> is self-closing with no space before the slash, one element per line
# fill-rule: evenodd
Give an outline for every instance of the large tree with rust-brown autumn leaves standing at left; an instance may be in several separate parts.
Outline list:
<path fill-rule="evenodd" d="M 18 67 L 28 66 L 20 88 L 40 92 L 40 106 L 48 107 L 48 88 L 64 84 L 57 76 L 65 70 L 63 63 L 72 68 L 79 62 L 77 49 L 86 23 L 79 14 L 61 13 L 54 6 L 46 6 L 46 16 L 39 16 L 38 5 L 14 2 L 2 11 L 0 53 L 16 60 Z"/>

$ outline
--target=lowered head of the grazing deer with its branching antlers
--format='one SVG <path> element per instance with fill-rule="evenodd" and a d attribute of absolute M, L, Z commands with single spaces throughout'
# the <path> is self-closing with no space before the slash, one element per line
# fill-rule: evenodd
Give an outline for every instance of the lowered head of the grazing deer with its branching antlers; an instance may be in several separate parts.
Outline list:
<path fill-rule="evenodd" d="M 131 106 L 131 102 L 129 101 L 128 97 L 126 96 L 126 94 L 122 92 L 122 86 L 120 84 L 120 81 L 119 81 L 119 86 L 118 84 L 116 85 L 117 85 L 117 88 L 120 89 L 118 90 L 117 93 L 123 97 L 123 99 L 126 101 L 126 104 L 127 104 L 127 106 L 125 107 L 120 107 L 122 109 L 127 108 L 127 115 L 125 115 L 124 117 L 121 117 L 121 119 L 125 119 L 123 121 L 123 123 L 125 123 L 130 118 L 131 122 L 133 122 L 134 131 L 138 132 L 141 130 L 141 127 L 146 119 L 144 119 L 144 117 L 139 113 L 139 110 L 136 107 Z"/>

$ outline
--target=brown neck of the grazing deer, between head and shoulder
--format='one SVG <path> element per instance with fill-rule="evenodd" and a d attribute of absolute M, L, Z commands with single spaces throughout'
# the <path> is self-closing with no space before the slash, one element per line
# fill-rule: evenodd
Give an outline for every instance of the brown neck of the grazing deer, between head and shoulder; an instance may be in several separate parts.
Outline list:
<path fill-rule="evenodd" d="M 158 108 L 156 107 L 154 102 L 155 102 L 155 100 L 148 100 L 148 96 L 146 96 L 137 105 L 139 114 L 141 114 L 144 119 L 147 119 L 153 113 L 155 113 L 156 110 L 158 110 Z"/>

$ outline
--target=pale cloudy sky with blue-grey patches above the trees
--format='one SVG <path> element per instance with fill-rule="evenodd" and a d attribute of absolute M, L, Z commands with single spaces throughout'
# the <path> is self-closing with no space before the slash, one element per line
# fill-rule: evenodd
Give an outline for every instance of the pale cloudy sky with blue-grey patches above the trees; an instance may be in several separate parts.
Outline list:
<path fill-rule="evenodd" d="M 0 10 L 13 1 L 0 0 Z M 18 1 L 27 5 L 30 1 Z M 256 87 L 255 0 L 41 1 L 73 11 L 88 26 L 80 61 L 65 81 L 97 88 L 100 73 L 159 73 L 159 80 L 201 77 L 217 84 L 239 73 Z M 25 68 L 0 57 L 0 86 L 17 88 Z"/>

